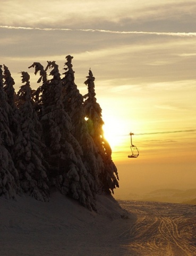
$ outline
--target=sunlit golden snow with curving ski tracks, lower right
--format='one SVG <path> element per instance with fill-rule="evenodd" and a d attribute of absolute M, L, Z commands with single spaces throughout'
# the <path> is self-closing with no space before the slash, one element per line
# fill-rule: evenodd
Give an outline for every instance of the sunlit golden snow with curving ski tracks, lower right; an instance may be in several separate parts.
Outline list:
<path fill-rule="evenodd" d="M 137 215 L 126 246 L 139 255 L 196 255 L 196 206 L 136 201 L 120 204 Z"/>

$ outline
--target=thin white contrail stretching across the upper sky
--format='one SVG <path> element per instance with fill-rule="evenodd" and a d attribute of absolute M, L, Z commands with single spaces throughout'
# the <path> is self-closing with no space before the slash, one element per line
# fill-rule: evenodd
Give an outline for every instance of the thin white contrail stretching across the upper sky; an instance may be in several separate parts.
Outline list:
<path fill-rule="evenodd" d="M 26 29 L 26 30 L 44 30 L 44 31 L 84 31 L 84 32 L 99 32 L 109 34 L 143 34 L 143 35 L 158 35 L 158 36 L 178 36 L 178 37 L 193 37 L 196 36 L 195 32 L 150 32 L 150 31 L 114 31 L 105 29 L 71 29 L 71 28 L 33 28 L 33 27 L 14 27 L 14 26 L 1 26 L 0 28 L 6 29 Z"/>

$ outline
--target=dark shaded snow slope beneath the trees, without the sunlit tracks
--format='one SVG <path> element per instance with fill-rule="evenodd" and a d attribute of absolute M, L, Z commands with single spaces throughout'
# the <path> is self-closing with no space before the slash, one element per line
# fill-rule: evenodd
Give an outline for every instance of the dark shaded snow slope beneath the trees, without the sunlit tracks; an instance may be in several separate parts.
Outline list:
<path fill-rule="evenodd" d="M 0 198 L 1 256 L 124 255 L 113 237 L 131 219 L 112 197 L 98 196 L 97 213 L 57 192 L 51 197 Z"/>

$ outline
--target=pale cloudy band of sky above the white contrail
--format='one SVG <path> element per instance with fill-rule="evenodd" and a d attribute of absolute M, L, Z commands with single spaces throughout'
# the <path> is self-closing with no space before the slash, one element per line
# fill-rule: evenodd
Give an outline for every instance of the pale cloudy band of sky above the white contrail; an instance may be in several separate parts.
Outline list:
<path fill-rule="evenodd" d="M 194 31 L 195 11 L 193 0 L 1 0 L 0 15 L 4 26 L 181 32 Z"/>

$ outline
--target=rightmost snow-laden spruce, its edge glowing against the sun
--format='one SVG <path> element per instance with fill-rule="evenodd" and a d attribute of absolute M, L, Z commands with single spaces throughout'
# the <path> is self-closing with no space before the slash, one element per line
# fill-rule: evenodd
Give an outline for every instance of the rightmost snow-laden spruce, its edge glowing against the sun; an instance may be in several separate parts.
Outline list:
<path fill-rule="evenodd" d="M 98 153 L 101 157 L 100 161 L 103 161 L 104 165 L 104 167 L 101 168 L 99 180 L 106 193 L 110 193 L 110 191 L 114 193 L 114 188 L 118 187 L 118 173 L 116 166 L 112 161 L 112 150 L 109 143 L 104 138 L 104 122 L 101 116 L 102 110 L 95 97 L 96 93 L 94 81 L 95 77 L 93 77 L 92 71 L 89 70 L 87 80 L 84 82 L 84 84 L 88 86 L 88 93 L 84 95 L 84 99 L 86 100 L 84 101 L 83 106 L 87 117 L 89 133 L 98 149 Z"/>

